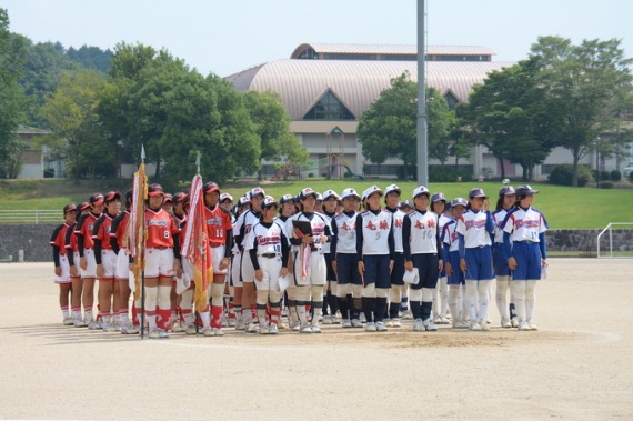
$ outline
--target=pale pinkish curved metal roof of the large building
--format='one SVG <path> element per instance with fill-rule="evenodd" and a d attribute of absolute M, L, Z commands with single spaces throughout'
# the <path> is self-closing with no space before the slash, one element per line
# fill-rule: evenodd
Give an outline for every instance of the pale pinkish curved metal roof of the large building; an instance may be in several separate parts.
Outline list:
<path fill-rule="evenodd" d="M 442 94 L 450 91 L 466 101 L 474 84 L 486 74 L 513 66 L 513 62 L 430 61 L 426 62 L 426 84 Z M 418 79 L 414 61 L 290 60 L 281 59 L 260 64 L 227 77 L 239 91 L 267 91 L 280 94 L 292 120 L 301 120 L 310 108 L 331 90 L 356 117 L 363 113 L 391 79 L 408 71 Z"/>

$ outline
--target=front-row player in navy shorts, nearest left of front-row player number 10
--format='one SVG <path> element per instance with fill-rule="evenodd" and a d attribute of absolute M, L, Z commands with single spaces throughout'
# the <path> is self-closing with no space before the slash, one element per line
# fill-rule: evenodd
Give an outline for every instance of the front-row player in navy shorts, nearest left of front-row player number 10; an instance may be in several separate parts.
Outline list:
<path fill-rule="evenodd" d="M 363 279 L 362 308 L 365 331 L 385 332 L 384 312 L 395 253 L 393 215 L 381 209 L 382 190 L 378 186 L 365 192 L 369 209 L 356 217 L 356 259 Z"/>

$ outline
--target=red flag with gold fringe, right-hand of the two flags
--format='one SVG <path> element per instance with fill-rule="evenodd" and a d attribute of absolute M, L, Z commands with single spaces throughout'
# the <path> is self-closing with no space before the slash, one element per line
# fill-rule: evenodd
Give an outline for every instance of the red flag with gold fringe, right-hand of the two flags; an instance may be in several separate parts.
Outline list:
<path fill-rule="evenodd" d="M 193 267 L 193 282 L 195 283 L 195 310 L 202 312 L 209 304 L 209 281 L 213 279 L 211 267 L 211 249 L 207 238 L 207 222 L 204 221 L 204 198 L 202 196 L 202 177 L 195 176 L 191 181 L 189 192 L 191 208 L 187 219 L 187 231 L 182 243 L 181 254 Z"/>

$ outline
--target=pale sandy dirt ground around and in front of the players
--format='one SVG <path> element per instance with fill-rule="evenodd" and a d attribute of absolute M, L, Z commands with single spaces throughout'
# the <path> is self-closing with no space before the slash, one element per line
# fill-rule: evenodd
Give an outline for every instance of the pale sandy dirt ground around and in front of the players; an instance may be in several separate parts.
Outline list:
<path fill-rule="evenodd" d="M 52 263 L 0 264 L 1 419 L 633 419 L 633 260 L 553 259 L 537 332 L 172 334 L 61 324 Z"/>

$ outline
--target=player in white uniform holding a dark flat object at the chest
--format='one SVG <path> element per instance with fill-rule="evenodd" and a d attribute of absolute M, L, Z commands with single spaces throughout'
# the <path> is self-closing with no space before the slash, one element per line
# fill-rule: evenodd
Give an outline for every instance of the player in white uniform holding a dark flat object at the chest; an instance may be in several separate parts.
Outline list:
<path fill-rule="evenodd" d="M 311 188 L 303 189 L 300 194 L 301 212 L 287 222 L 290 243 L 299 247 L 299 251 L 293 253 L 293 272 L 294 283 L 298 287 L 295 305 L 301 322 L 301 333 L 321 333 L 319 315 L 323 305 L 323 285 L 326 275 L 323 244 L 332 240 L 332 231 L 325 217 L 314 211 L 316 194 Z M 311 234 L 297 229 L 294 221 L 309 222 Z M 314 309 L 310 325 L 305 314 L 305 305 L 308 304 Z"/>

